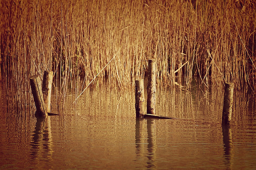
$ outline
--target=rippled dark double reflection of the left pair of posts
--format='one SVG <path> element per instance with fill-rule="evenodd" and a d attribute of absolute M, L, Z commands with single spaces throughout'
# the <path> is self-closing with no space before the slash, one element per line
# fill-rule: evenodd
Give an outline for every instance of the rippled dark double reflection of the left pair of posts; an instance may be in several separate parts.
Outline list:
<path fill-rule="evenodd" d="M 38 160 L 52 161 L 52 133 L 50 116 L 37 117 L 31 139 L 30 158 L 33 164 Z"/>

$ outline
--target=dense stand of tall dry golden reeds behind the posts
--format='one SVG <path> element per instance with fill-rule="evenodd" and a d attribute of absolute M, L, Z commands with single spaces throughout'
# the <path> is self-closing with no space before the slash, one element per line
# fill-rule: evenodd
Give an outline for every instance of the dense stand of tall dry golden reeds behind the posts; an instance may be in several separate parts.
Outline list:
<path fill-rule="evenodd" d="M 77 98 L 96 75 L 129 88 L 146 75 L 148 59 L 156 59 L 157 84 L 188 89 L 198 76 L 206 86 L 255 88 L 251 0 L 2 0 L 0 7 L 1 74 L 19 108 L 32 100 L 29 77 L 44 70 L 54 72 L 60 105 L 69 86 Z"/>

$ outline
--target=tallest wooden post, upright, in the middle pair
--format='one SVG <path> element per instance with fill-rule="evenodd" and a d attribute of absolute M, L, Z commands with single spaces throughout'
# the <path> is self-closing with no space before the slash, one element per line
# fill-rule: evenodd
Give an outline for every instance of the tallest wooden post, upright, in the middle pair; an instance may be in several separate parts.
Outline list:
<path fill-rule="evenodd" d="M 147 114 L 156 114 L 156 60 L 148 60 Z"/>

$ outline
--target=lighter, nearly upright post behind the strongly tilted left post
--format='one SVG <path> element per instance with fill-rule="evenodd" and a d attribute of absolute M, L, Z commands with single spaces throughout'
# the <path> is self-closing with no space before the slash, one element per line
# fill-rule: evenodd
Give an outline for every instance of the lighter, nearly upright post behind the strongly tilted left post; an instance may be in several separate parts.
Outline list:
<path fill-rule="evenodd" d="M 47 112 L 51 110 L 51 93 L 52 93 L 52 76 L 53 71 L 44 71 L 44 77 L 42 82 L 42 92 L 44 96 L 44 103 Z"/>

